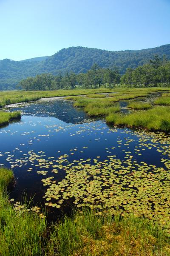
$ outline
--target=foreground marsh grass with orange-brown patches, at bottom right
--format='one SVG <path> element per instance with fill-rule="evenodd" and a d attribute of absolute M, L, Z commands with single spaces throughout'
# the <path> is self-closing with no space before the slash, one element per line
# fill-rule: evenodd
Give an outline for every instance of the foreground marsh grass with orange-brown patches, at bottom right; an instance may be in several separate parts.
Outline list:
<path fill-rule="evenodd" d="M 96 215 L 97 214 L 97 215 Z M 169 255 L 169 238 L 148 219 L 82 208 L 54 225 L 51 253 L 57 255 Z"/>

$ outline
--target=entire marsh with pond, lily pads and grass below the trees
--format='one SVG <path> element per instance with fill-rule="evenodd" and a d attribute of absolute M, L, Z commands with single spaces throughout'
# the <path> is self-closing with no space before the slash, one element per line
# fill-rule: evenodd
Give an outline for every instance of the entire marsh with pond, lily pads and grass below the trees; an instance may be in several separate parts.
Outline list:
<path fill-rule="evenodd" d="M 170 255 L 169 90 L 0 92 L 0 255 Z"/>

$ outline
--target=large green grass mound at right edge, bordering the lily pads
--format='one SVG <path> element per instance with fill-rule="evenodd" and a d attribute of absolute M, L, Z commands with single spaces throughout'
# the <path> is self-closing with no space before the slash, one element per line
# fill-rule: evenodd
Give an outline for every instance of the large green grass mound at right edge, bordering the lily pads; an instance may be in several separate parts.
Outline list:
<path fill-rule="evenodd" d="M 156 131 L 170 131 L 170 107 L 155 107 L 128 115 L 110 114 L 107 123 Z"/>

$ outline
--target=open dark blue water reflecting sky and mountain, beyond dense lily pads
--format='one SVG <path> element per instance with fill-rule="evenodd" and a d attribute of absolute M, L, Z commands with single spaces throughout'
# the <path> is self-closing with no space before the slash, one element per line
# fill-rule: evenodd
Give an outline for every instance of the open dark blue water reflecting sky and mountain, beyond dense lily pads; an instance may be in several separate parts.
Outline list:
<path fill-rule="evenodd" d="M 33 102 L 10 110 L 24 113 L 21 122 L 0 129 L 0 164 L 13 167 L 17 184 L 11 197 L 16 199 L 27 189 L 28 196 L 36 193 L 35 200 L 43 202 L 46 188 L 42 186 L 41 179 L 54 176 L 58 182 L 65 177 L 62 169 L 58 174 L 51 172 L 51 165 L 40 169 L 36 160 L 34 163 L 28 160 L 32 154 L 30 151 L 54 162 L 64 154 L 72 162 L 97 156 L 103 161 L 111 155 L 124 159 L 130 152 L 133 160 L 139 163 L 144 161 L 148 165 L 161 167 L 164 166 L 161 158 L 167 158 L 157 150 L 161 145 L 154 133 L 142 131 L 140 134 L 127 128 L 111 129 L 102 120 L 89 119 L 82 110 L 73 108 L 72 103 L 65 100 Z M 151 141 L 152 138 L 154 141 Z M 154 145 L 152 150 L 146 146 L 148 143 Z M 43 176 L 37 171 L 48 173 Z"/>

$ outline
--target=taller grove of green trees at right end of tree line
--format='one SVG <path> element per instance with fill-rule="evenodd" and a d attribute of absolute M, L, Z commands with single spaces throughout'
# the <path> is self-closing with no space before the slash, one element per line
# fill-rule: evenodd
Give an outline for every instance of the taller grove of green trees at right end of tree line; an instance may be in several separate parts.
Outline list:
<path fill-rule="evenodd" d="M 130 87 L 170 86 L 170 61 L 155 55 L 153 60 L 135 69 L 127 68 L 121 84 Z"/>

